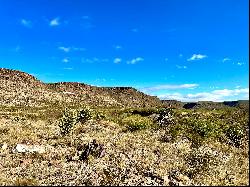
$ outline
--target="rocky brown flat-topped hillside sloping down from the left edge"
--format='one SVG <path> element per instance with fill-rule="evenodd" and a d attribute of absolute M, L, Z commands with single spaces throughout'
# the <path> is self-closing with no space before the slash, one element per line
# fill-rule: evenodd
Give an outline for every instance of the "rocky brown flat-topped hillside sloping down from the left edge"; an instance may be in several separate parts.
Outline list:
<path fill-rule="evenodd" d="M 42 107 L 79 103 L 113 107 L 162 106 L 159 98 L 132 87 L 96 87 L 78 82 L 47 84 L 28 73 L 0 68 L 0 105 Z"/>

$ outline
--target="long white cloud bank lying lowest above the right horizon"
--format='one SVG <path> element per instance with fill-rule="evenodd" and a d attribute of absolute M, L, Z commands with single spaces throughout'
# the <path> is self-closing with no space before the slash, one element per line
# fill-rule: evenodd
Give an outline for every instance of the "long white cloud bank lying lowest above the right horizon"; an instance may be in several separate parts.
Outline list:
<path fill-rule="evenodd" d="M 173 99 L 183 102 L 195 101 L 226 101 L 231 100 L 231 97 L 243 95 L 244 99 L 249 99 L 249 88 L 244 89 L 223 89 L 214 90 L 211 92 L 200 92 L 196 94 L 181 94 L 181 93 L 166 93 L 158 95 L 160 99 Z"/>

